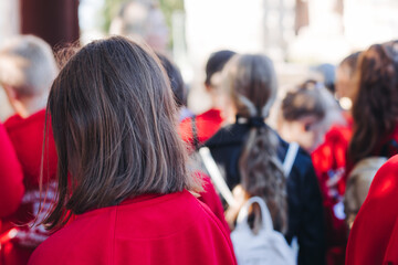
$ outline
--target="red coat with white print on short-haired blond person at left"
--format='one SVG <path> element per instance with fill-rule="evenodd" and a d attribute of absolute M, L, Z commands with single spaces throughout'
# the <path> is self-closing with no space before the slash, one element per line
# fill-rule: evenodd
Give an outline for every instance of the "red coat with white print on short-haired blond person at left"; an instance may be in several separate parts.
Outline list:
<path fill-rule="evenodd" d="M 55 189 L 57 156 L 52 135 L 51 125 L 48 127 L 48 146 L 44 147 L 43 192 L 40 193 L 39 180 L 41 171 L 45 110 L 40 110 L 28 118 L 19 115 L 10 117 L 4 127 L 21 162 L 25 193 L 18 211 L 3 219 L 1 233 L 11 229 L 18 231 L 17 235 L 1 247 L 2 265 L 24 265 L 28 263 L 34 247 L 48 237 L 48 233 L 40 227 L 30 229 L 25 225 L 35 219 L 40 205 L 43 211 L 38 216 L 42 219 L 51 205 L 51 192 Z M 50 182 L 51 181 L 51 182 Z M 48 186 L 49 184 L 49 186 Z M 46 197 L 46 203 L 40 204 L 40 197 Z M 14 226 L 14 224 L 22 226 Z"/>

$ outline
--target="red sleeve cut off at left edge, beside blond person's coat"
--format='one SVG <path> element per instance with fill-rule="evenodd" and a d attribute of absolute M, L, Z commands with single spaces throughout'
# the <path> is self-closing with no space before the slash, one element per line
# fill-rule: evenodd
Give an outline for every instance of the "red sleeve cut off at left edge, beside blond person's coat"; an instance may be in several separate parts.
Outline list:
<path fill-rule="evenodd" d="M 15 151 L 0 124 L 0 218 L 10 215 L 19 206 L 24 192 L 23 173 Z"/>

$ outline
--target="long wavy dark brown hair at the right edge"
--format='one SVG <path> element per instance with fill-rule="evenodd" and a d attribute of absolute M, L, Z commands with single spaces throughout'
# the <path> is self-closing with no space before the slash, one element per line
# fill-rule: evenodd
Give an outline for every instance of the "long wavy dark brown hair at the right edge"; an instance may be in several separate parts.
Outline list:
<path fill-rule="evenodd" d="M 373 155 L 394 131 L 398 119 L 398 61 L 396 42 L 375 44 L 358 60 L 358 87 L 353 104 L 352 162 Z"/>

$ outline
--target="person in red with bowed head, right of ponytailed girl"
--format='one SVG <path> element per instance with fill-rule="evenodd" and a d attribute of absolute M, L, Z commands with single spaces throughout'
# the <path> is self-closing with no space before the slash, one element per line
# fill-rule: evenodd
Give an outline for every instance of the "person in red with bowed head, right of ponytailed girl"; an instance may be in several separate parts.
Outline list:
<path fill-rule="evenodd" d="M 344 195 L 342 177 L 350 130 L 333 95 L 315 81 L 289 92 L 282 100 L 277 130 L 311 153 L 324 200 L 337 203 Z"/>

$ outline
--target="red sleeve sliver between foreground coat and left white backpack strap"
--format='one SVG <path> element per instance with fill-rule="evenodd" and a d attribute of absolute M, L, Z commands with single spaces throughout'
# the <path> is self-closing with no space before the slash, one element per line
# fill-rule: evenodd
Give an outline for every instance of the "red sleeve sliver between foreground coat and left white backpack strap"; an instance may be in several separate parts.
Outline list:
<path fill-rule="evenodd" d="M 227 232 L 230 232 L 228 223 L 224 218 L 223 208 L 219 195 L 217 194 L 214 187 L 209 176 L 200 173 L 203 180 L 205 191 L 200 193 L 199 200 L 210 208 L 214 215 L 221 221 Z"/>

